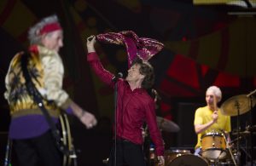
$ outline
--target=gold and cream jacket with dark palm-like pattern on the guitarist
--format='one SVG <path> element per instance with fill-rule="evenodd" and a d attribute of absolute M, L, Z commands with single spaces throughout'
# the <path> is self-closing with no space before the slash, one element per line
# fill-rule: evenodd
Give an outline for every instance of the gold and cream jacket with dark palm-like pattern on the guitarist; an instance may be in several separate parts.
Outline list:
<path fill-rule="evenodd" d="M 31 114 L 42 114 L 37 104 L 27 92 L 25 78 L 20 66 L 22 52 L 15 54 L 9 65 L 5 78 L 6 92 L 4 97 L 9 102 L 12 118 Z M 70 103 L 68 94 L 62 89 L 64 68 L 61 57 L 55 51 L 42 46 L 31 47 L 31 57 L 28 59 L 28 71 L 32 82 L 44 97 L 44 105 L 52 117 L 58 117 L 60 110 L 67 109 Z M 52 102 L 46 102 L 50 100 Z"/>

